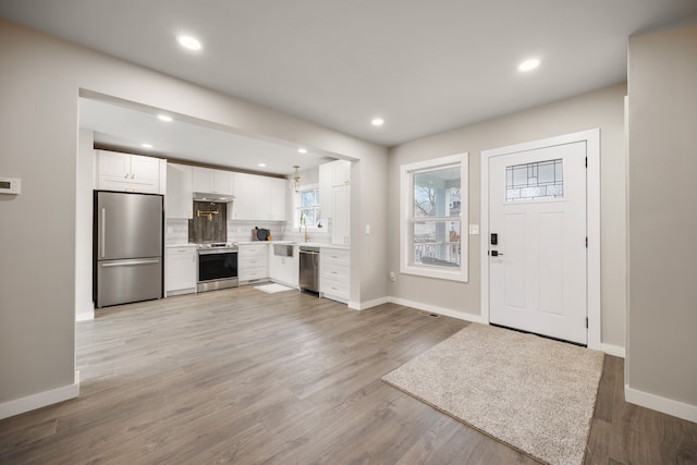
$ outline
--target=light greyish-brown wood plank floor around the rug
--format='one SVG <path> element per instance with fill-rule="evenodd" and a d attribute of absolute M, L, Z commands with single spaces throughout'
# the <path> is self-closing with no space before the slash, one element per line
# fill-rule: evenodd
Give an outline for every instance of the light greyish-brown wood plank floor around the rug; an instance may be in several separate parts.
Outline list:
<path fill-rule="evenodd" d="M 77 323 L 76 400 L 0 421 L 1 464 L 533 464 L 380 381 L 467 323 L 252 286 Z M 587 464 L 697 463 L 697 425 L 623 399 L 607 357 Z"/>

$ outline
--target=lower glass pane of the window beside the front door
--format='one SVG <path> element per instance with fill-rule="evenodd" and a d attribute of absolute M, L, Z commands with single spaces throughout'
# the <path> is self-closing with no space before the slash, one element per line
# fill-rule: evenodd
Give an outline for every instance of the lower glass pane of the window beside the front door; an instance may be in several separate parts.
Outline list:
<path fill-rule="evenodd" d="M 414 223 L 414 264 L 460 267 L 460 221 Z"/>

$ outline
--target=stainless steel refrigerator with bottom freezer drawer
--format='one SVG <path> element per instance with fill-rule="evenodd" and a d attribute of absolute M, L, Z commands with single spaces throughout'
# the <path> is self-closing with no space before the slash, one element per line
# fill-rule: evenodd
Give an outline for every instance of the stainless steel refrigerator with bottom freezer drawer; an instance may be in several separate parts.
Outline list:
<path fill-rule="evenodd" d="M 162 196 L 95 192 L 97 308 L 162 297 Z"/>

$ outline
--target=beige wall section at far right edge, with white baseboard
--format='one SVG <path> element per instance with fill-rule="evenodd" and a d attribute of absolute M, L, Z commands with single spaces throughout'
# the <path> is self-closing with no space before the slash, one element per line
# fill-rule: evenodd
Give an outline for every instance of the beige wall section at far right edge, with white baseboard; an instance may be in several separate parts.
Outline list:
<path fill-rule="evenodd" d="M 697 421 L 697 27 L 629 39 L 626 399 Z"/>

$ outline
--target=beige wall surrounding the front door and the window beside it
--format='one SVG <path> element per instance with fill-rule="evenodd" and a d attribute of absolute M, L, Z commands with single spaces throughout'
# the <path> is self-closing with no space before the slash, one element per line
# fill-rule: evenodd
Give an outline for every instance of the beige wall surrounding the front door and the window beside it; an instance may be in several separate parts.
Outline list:
<path fill-rule="evenodd" d="M 479 235 L 470 235 L 469 282 L 458 283 L 399 274 L 400 167 L 414 161 L 469 154 L 469 223 L 480 223 L 480 154 L 482 150 L 578 131 L 600 129 L 601 138 L 601 342 L 623 353 L 625 341 L 625 85 L 596 90 L 467 127 L 426 137 L 391 149 L 389 166 L 389 269 L 398 272 L 391 296 L 427 304 L 449 315 L 481 316 Z"/>

